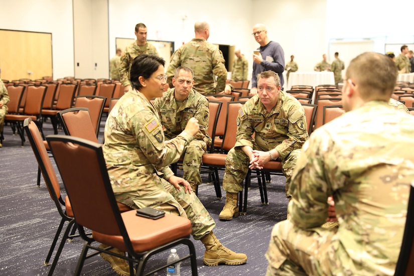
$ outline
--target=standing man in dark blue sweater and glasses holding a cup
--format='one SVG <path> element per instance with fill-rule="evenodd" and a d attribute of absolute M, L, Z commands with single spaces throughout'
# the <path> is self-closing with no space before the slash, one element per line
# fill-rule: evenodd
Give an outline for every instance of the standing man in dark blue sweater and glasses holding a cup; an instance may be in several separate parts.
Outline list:
<path fill-rule="evenodd" d="M 260 45 L 257 50 L 258 54 L 253 54 L 253 73 L 251 75 L 250 94 L 257 94 L 257 74 L 271 70 L 278 73 L 281 80 L 281 87 L 285 83 L 283 79 L 283 71 L 285 71 L 285 52 L 282 46 L 274 41 L 270 41 L 267 37 L 266 26 L 256 24 L 252 33 L 256 42 Z"/>

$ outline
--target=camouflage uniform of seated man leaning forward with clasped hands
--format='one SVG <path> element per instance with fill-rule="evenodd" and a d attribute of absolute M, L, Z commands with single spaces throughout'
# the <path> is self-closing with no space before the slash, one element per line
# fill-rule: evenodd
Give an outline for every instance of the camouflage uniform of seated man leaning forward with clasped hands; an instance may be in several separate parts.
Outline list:
<path fill-rule="evenodd" d="M 250 157 L 239 147 L 250 146 L 253 150 L 278 151 L 281 156 L 278 161 L 282 162 L 288 191 L 300 149 L 308 139 L 305 111 L 301 103 L 295 97 L 280 91 L 275 107 L 267 112 L 256 94 L 240 108 L 236 123 L 236 144 L 225 160 L 223 189 L 230 193 L 242 191 L 241 183 L 247 174 Z M 289 196 L 287 192 L 287 197 Z"/>

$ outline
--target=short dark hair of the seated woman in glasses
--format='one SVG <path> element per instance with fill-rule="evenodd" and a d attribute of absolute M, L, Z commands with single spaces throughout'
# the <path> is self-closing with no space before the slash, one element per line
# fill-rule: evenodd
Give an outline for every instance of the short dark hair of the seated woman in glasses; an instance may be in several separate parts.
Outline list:
<path fill-rule="evenodd" d="M 130 81 L 133 89 L 142 87 L 139 78 L 149 79 L 158 70 L 160 65 L 164 66 L 165 61 L 156 55 L 141 54 L 133 59 L 130 73 Z"/>

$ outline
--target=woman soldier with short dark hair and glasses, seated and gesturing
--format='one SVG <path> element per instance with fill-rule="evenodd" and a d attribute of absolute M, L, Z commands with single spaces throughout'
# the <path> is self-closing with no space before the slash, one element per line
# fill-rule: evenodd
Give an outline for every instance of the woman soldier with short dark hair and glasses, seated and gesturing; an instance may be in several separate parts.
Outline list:
<path fill-rule="evenodd" d="M 155 55 L 136 58 L 130 71 L 132 89 L 118 100 L 106 120 L 103 154 L 115 198 L 134 209 L 152 207 L 188 217 L 194 239 L 206 247 L 206 265 L 242 264 L 247 256 L 219 242 L 213 234 L 215 222 L 192 193 L 190 184 L 168 167 L 178 161 L 199 125 L 196 118 L 190 118 L 180 134 L 165 141 L 158 112 L 150 102 L 163 95 L 167 83 L 164 64 Z M 126 263 L 119 258 L 113 262 Z"/>

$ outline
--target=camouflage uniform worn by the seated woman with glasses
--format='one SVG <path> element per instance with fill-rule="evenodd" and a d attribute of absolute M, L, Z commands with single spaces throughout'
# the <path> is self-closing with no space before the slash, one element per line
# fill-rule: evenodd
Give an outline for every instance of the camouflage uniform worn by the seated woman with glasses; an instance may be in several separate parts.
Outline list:
<path fill-rule="evenodd" d="M 153 207 L 188 217 L 200 239 L 215 222 L 195 193 L 178 191 L 167 179 L 193 136 L 184 131 L 164 140 L 158 113 L 141 92 L 132 89 L 118 100 L 105 124 L 103 154 L 116 200 L 131 208 Z"/>

